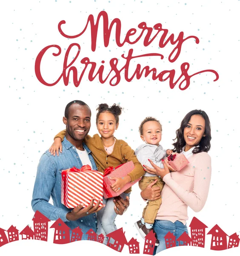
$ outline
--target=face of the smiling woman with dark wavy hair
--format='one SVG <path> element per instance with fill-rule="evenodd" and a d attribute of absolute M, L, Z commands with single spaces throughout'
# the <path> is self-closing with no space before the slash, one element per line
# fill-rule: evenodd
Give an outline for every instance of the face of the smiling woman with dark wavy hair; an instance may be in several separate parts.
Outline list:
<path fill-rule="evenodd" d="M 183 130 L 183 136 L 186 142 L 185 151 L 198 145 L 202 137 L 205 137 L 205 120 L 203 116 L 191 116 L 191 119 Z"/>

